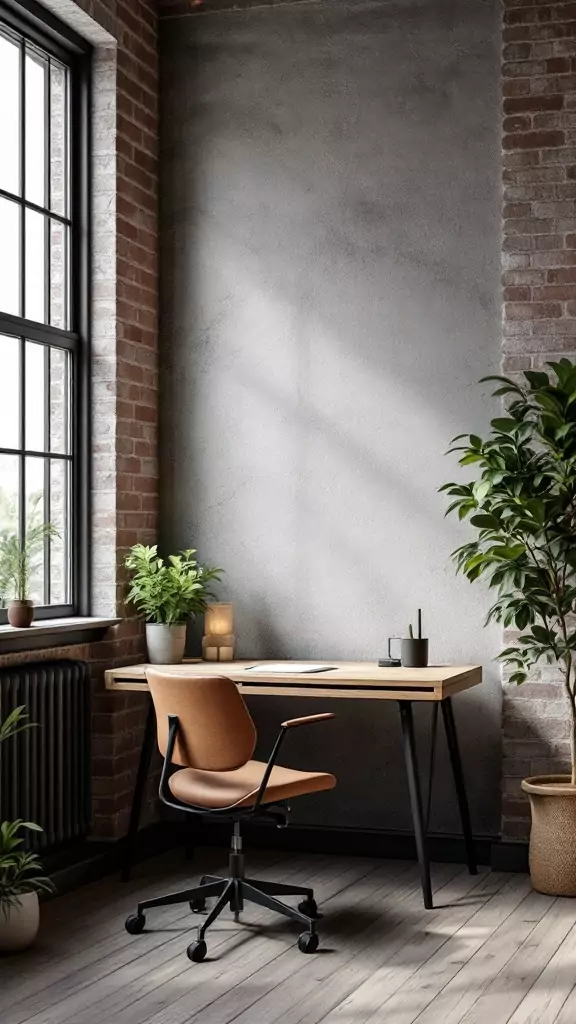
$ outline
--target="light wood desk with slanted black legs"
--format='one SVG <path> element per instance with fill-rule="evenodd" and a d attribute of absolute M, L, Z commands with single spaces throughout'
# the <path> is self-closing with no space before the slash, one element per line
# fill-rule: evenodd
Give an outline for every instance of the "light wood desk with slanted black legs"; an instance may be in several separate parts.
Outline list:
<path fill-rule="evenodd" d="M 427 669 L 380 669 L 377 665 L 371 662 L 323 662 L 318 664 L 330 665 L 333 666 L 333 669 L 331 669 L 330 672 L 302 675 L 275 674 L 268 671 L 256 674 L 247 672 L 246 670 L 250 668 L 250 666 L 265 666 L 265 662 L 213 663 L 194 660 L 184 662 L 182 665 L 166 666 L 165 671 L 173 672 L 178 675 L 228 676 L 230 679 L 233 679 L 235 683 L 238 683 L 242 694 L 250 696 L 298 696 L 324 697 L 325 699 L 344 698 L 354 700 L 396 700 L 400 709 L 406 772 L 408 776 L 412 820 L 414 823 L 414 838 L 416 841 L 416 851 L 418 854 L 418 863 L 420 865 L 420 876 L 422 882 L 422 895 L 424 899 L 424 906 L 429 908 L 433 906 L 433 896 L 426 833 L 430 810 L 431 781 L 439 708 L 442 710 L 444 720 L 468 868 L 471 873 L 476 873 L 477 870 L 468 803 L 462 774 L 454 712 L 452 709 L 452 696 L 456 693 L 462 692 L 463 690 L 470 689 L 472 686 L 478 686 L 478 684 L 482 682 L 482 669 L 480 666 L 476 665 L 430 666 Z M 107 689 L 119 692 L 148 692 L 148 684 L 146 681 L 147 668 L 147 665 L 133 665 L 119 669 L 109 669 L 105 673 Z M 156 668 L 162 669 L 164 667 L 157 666 Z M 412 705 L 414 702 L 429 703 L 433 711 L 431 744 L 425 813 L 422 805 L 418 759 L 414 736 L 414 722 L 412 714 Z M 152 752 L 155 744 L 155 733 L 156 718 L 154 714 L 154 706 L 151 700 L 147 716 L 145 737 L 140 751 L 136 784 L 134 786 L 134 795 L 132 799 L 132 808 L 130 812 L 130 824 L 126 843 L 126 859 L 122 873 L 124 880 L 127 880 L 130 873 L 131 850 L 134 837 L 138 829 L 143 791 L 150 768 Z"/>

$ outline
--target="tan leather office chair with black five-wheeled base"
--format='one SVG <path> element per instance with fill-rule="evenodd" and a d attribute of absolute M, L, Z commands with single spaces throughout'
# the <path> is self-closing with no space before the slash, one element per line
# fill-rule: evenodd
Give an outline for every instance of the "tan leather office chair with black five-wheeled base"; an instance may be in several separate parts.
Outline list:
<path fill-rule="evenodd" d="M 287 802 L 306 793 L 332 790 L 334 775 L 295 771 L 277 765 L 286 733 L 296 726 L 323 722 L 333 715 L 310 715 L 283 722 L 268 763 L 253 761 L 256 730 L 242 696 L 231 679 L 222 676 L 182 676 L 149 669 L 148 684 L 156 709 L 158 745 L 164 756 L 160 799 L 168 807 L 192 814 L 232 818 L 234 834 L 228 878 L 204 876 L 193 889 L 159 896 L 138 903 L 126 920 L 126 931 L 143 931 L 143 911 L 171 903 L 190 903 L 202 912 L 206 899 L 217 897 L 188 947 L 192 961 L 203 961 L 207 949 L 206 929 L 230 905 L 236 920 L 244 901 L 257 903 L 305 925 L 298 939 L 302 952 L 318 949 L 318 909 L 312 889 L 275 882 L 258 882 L 244 876 L 240 823 L 247 817 L 268 817 L 285 823 Z M 174 766 L 178 766 L 173 771 Z M 278 896 L 303 896 L 298 908 L 282 903 Z"/>

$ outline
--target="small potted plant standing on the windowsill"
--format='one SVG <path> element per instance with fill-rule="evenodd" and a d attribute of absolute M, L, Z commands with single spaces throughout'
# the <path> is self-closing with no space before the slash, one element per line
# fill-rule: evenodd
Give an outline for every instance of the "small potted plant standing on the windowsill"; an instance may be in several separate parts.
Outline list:
<path fill-rule="evenodd" d="M 11 530 L 0 534 L 0 596 L 8 603 L 10 626 L 25 629 L 32 625 L 34 604 L 30 600 L 31 580 L 39 571 L 46 538 L 57 537 L 50 522 L 29 526 L 24 543 Z"/>

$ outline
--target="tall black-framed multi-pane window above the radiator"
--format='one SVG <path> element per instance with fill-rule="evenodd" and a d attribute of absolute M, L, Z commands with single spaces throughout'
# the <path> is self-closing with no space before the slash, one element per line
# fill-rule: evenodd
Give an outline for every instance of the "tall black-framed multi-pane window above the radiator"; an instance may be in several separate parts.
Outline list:
<path fill-rule="evenodd" d="M 41 618 L 88 610 L 87 53 L 35 10 L 0 3 L 0 561 Z"/>

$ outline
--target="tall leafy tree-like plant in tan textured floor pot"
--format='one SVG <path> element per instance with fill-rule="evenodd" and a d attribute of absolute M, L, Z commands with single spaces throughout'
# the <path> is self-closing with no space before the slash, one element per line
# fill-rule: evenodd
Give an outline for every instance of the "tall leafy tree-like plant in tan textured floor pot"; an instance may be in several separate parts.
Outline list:
<path fill-rule="evenodd" d="M 454 552 L 457 570 L 491 587 L 487 622 L 517 630 L 499 657 L 522 684 L 533 666 L 558 666 L 564 683 L 570 775 L 527 778 L 532 811 L 530 869 L 534 888 L 576 896 L 576 365 L 547 364 L 524 381 L 497 381 L 508 401 L 486 439 L 454 438 L 469 483 L 447 483 L 448 512 L 469 518 L 472 541 Z M 448 514 L 448 513 L 447 513 Z"/>

